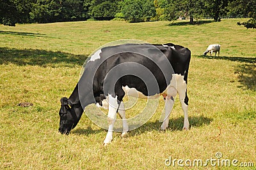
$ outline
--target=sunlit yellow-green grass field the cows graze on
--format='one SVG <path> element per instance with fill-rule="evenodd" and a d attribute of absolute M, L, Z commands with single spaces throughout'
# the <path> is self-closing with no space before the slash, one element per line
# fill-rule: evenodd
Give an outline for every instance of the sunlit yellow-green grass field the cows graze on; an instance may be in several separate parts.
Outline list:
<path fill-rule="evenodd" d="M 198 25 L 169 22 L 65 22 L 0 25 L 0 169 L 184 169 L 165 160 L 236 159 L 256 168 L 256 30 L 246 19 Z M 106 131 L 83 115 L 68 136 L 58 132 L 60 98 L 70 96 L 81 66 L 96 48 L 117 39 L 175 43 L 192 52 L 188 77 L 190 130 L 182 131 L 177 100 L 165 132 L 159 131 L 163 99 L 155 115 L 127 138 Z M 202 56 L 220 43 L 220 57 Z M 33 103 L 22 108 L 21 102 Z M 140 105 L 140 104 L 138 104 Z M 140 106 L 136 106 L 140 108 Z M 136 113 L 136 108 L 127 115 Z M 217 159 L 217 160 L 221 160 Z M 168 163 L 168 162 L 167 162 Z M 187 163 L 189 163 L 187 161 Z M 236 163 L 236 162 L 235 162 Z"/>

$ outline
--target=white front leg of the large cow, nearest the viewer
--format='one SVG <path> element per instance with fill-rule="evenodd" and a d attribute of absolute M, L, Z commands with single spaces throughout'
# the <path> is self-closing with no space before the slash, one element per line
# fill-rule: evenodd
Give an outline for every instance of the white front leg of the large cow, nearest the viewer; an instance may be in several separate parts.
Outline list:
<path fill-rule="evenodd" d="M 106 138 L 104 139 L 103 145 L 106 146 L 108 143 L 111 142 L 113 139 L 113 129 L 114 129 L 114 124 L 116 120 L 116 111 L 118 109 L 118 103 L 117 103 L 117 97 L 112 97 L 109 95 L 109 109 L 108 109 L 108 134 Z"/>

